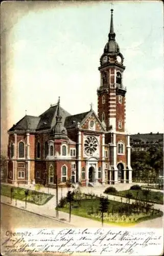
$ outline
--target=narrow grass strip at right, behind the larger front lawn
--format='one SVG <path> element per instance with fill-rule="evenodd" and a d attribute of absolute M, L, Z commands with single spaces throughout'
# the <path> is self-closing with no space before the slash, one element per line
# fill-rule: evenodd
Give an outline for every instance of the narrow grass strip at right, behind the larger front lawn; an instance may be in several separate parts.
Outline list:
<path fill-rule="evenodd" d="M 131 199 L 138 199 L 141 201 L 147 201 L 151 203 L 157 203 L 157 204 L 163 204 L 163 193 L 158 191 L 150 191 L 148 198 L 143 194 L 144 189 L 140 190 L 122 190 L 122 191 L 116 191 L 116 193 L 112 193 L 111 195 L 125 197 L 128 192 L 132 194 Z M 138 195 L 137 195 L 138 193 Z"/>

